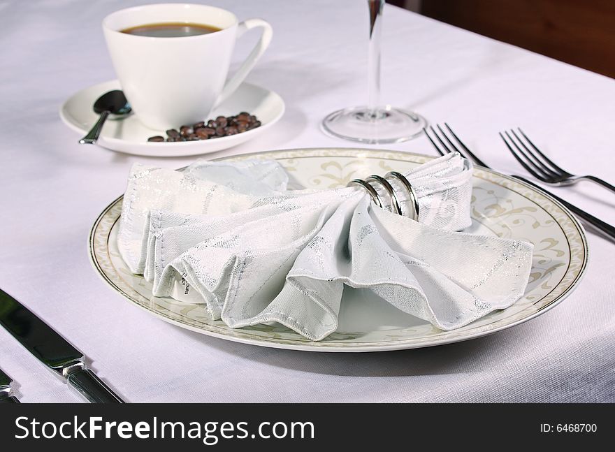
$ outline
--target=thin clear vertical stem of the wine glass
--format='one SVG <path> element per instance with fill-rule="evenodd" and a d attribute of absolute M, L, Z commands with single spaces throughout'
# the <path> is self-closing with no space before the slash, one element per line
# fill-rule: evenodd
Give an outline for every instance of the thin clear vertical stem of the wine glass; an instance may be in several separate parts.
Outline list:
<path fill-rule="evenodd" d="M 368 109 L 372 119 L 378 116 L 380 103 L 380 36 L 384 0 L 368 0 L 370 8 L 370 45 L 368 53 Z"/>

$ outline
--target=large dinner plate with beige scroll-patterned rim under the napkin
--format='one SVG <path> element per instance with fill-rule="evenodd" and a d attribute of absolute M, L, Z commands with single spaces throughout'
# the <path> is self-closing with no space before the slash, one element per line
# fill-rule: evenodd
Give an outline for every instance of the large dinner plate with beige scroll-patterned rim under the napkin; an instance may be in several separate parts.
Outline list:
<path fill-rule="evenodd" d="M 277 159 L 291 175 L 291 187 L 329 189 L 356 177 L 405 172 L 430 156 L 361 149 L 304 149 L 262 152 L 231 159 Z M 500 173 L 475 168 L 472 226 L 468 232 L 528 240 L 534 244 L 533 268 L 523 298 L 463 328 L 439 330 L 370 296 L 346 288 L 338 330 L 312 342 L 277 323 L 231 329 L 212 321 L 204 307 L 152 296 L 151 284 L 133 275 L 117 250 L 122 197 L 101 213 L 89 238 L 96 271 L 109 286 L 146 312 L 182 328 L 246 344 L 309 351 L 386 351 L 430 347 L 481 337 L 547 312 L 579 283 L 587 263 L 583 228 L 572 214 L 546 194 Z"/>

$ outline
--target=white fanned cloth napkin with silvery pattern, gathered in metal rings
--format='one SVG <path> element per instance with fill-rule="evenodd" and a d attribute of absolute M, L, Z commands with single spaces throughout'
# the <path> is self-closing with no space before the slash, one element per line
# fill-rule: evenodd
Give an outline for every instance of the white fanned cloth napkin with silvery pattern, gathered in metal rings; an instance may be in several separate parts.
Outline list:
<path fill-rule="evenodd" d="M 345 284 L 443 330 L 518 300 L 533 246 L 454 232 L 470 226 L 471 164 L 448 154 L 406 177 L 418 222 L 363 189 L 288 191 L 275 161 L 135 165 L 120 253 L 154 296 L 203 303 L 231 328 L 277 321 L 310 340 L 337 328 Z"/>

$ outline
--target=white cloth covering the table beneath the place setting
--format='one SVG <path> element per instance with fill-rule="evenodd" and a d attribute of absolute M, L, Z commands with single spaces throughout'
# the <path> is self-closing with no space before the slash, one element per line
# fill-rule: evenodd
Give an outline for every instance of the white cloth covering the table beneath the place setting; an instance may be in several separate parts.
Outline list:
<path fill-rule="evenodd" d="M 615 401 L 615 245 L 595 235 L 586 276 L 561 305 L 502 333 L 429 349 L 253 347 L 172 326 L 113 292 L 88 260 L 94 219 L 122 193 L 133 162 L 175 168 L 193 159 L 78 145 L 57 112 L 78 89 L 114 78 L 100 22 L 138 3 L 0 2 L 0 287 L 84 351 L 126 400 Z M 366 100 L 364 1 L 208 3 L 273 25 L 273 43 L 247 80 L 287 103 L 268 133 L 212 157 L 351 147 L 324 136 L 319 122 Z M 502 172 L 521 168 L 497 132 L 519 125 L 565 168 L 615 181 L 614 80 L 393 6 L 384 14 L 384 101 L 449 122 Z M 386 148 L 433 154 L 424 137 Z M 591 184 L 556 190 L 615 224 L 614 194 Z M 0 367 L 22 402 L 82 401 L 1 328 Z"/>

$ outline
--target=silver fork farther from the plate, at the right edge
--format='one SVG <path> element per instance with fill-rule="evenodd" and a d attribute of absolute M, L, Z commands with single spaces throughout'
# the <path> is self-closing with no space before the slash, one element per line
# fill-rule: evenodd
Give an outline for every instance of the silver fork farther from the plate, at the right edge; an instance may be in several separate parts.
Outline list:
<path fill-rule="evenodd" d="M 589 175 L 574 175 L 560 168 L 560 166 L 544 155 L 542 151 L 532 143 L 532 140 L 523 133 L 521 127 L 517 127 L 517 130 L 520 136 L 517 135 L 514 130 L 510 129 L 510 133 L 508 131 L 504 132 L 508 140 L 502 132 L 500 132 L 500 137 L 502 137 L 502 140 L 504 140 L 504 143 L 506 143 L 508 150 L 512 153 L 514 158 L 521 163 L 523 168 L 528 170 L 528 173 L 536 177 L 537 180 L 541 180 L 545 184 L 556 186 L 572 185 L 579 182 L 579 180 L 588 180 L 615 192 L 615 187 L 605 180 Z"/>

